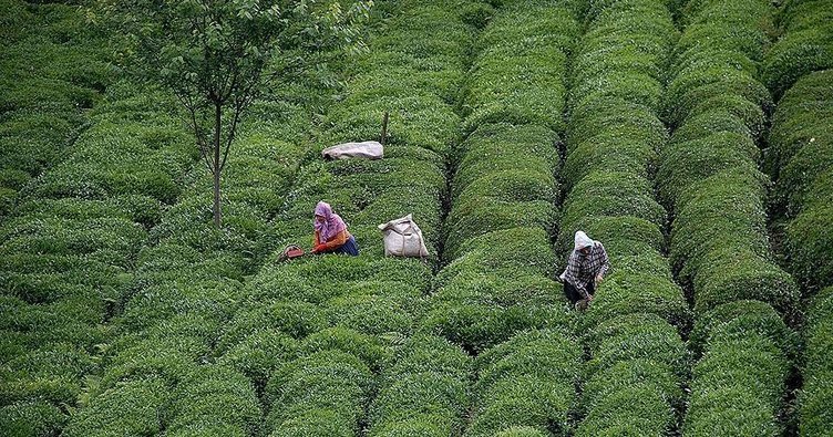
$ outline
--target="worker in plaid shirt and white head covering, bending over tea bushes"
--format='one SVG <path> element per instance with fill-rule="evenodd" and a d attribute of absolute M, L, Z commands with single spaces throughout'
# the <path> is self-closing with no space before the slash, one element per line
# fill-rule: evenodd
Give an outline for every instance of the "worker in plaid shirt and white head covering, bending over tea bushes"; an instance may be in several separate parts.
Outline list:
<path fill-rule="evenodd" d="M 575 247 L 569 254 L 567 268 L 558 277 L 564 282 L 564 293 L 570 303 L 593 300 L 596 287 L 610 271 L 610 260 L 599 241 L 594 241 L 583 231 L 576 232 Z"/>

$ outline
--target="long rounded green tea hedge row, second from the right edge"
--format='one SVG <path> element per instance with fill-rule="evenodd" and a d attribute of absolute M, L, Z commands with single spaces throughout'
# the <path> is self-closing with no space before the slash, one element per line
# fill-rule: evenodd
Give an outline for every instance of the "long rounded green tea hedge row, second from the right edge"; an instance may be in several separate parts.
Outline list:
<path fill-rule="evenodd" d="M 772 261 L 764 211 L 769 180 L 757 169 L 762 115 L 772 108 L 758 63 L 774 28 L 774 8 L 757 0 L 702 0 L 689 2 L 683 17 L 688 25 L 664 97 L 665 118 L 676 132 L 658 169 L 661 199 L 677 215 L 671 261 L 693 285 L 700 314 L 693 352 L 707 351 L 695 370 L 683 433 L 774 435 L 788 367 L 783 354 L 794 353 L 794 342 L 772 308 L 791 319 L 799 296 L 792 278 Z M 770 339 L 782 335 L 772 351 Z M 727 374 L 726 366 L 750 365 L 734 363 L 744 360 L 769 373 L 769 379 L 760 375 L 763 386 Z M 762 391 L 772 394 L 769 406 L 753 405 Z"/>

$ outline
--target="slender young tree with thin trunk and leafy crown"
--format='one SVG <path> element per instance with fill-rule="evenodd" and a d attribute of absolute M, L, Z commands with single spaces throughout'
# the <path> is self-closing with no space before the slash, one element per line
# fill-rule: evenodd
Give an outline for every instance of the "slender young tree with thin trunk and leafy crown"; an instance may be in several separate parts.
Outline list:
<path fill-rule="evenodd" d="M 261 90 L 312 67 L 321 53 L 361 48 L 372 0 L 101 0 L 133 42 L 143 75 L 185 107 L 214 177 L 219 228 L 220 175 L 240 117 Z"/>

